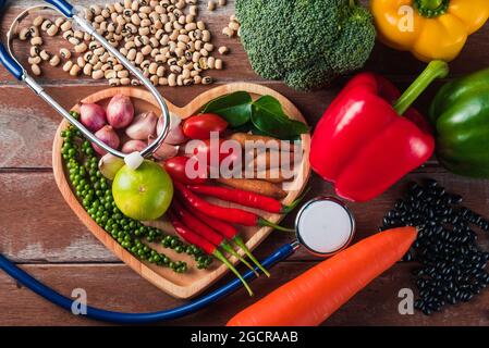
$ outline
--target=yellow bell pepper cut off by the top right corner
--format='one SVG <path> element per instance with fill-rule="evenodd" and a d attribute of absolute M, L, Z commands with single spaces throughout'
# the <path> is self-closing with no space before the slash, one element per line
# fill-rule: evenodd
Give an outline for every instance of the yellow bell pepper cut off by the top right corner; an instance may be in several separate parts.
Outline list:
<path fill-rule="evenodd" d="M 379 39 L 416 58 L 454 60 L 489 17 L 489 0 L 371 0 Z"/>

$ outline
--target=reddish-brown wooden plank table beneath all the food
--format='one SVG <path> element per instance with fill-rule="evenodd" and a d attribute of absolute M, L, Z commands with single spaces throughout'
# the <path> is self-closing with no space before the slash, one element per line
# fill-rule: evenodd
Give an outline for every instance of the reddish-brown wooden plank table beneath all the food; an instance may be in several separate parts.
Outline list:
<path fill-rule="evenodd" d="M 87 0 L 73 2 L 82 5 L 91 3 Z M 213 13 L 209 13 L 204 5 L 200 11 L 216 34 L 215 44 L 225 45 L 232 51 L 225 58 L 227 69 L 212 72 L 217 84 L 245 80 L 269 86 L 295 102 L 308 122 L 315 125 L 347 77 L 338 80 L 331 88 L 311 94 L 297 92 L 279 82 L 261 79 L 252 71 L 239 40 L 224 38 L 220 34 L 233 12 L 233 1 L 229 2 L 225 9 Z M 16 7 L 11 8 L 5 15 L 3 33 L 13 15 L 33 3 L 38 1 L 16 2 Z M 489 25 L 486 25 L 469 38 L 462 55 L 451 64 L 452 78 L 489 65 L 488 35 Z M 25 50 L 19 50 L 17 57 L 26 55 Z M 408 53 L 395 52 L 378 45 L 367 67 L 384 74 L 400 88 L 405 88 L 423 66 Z M 105 83 L 83 77 L 70 78 L 60 69 L 47 71 L 40 82 L 65 108 L 107 87 Z M 164 87 L 160 91 L 175 104 L 182 105 L 211 87 Z M 439 84 L 430 88 L 417 103 L 420 110 L 427 110 L 428 101 L 438 87 Z M 65 204 L 51 173 L 51 142 L 59 122 L 60 116 L 53 110 L 0 69 L 0 250 L 62 294 L 70 296 L 74 288 L 83 287 L 91 306 L 133 312 L 171 308 L 181 303 L 140 278 L 106 250 Z M 358 224 L 357 239 L 377 231 L 382 215 L 405 189 L 406 183 L 427 176 L 463 195 L 467 207 L 489 214 L 487 181 L 455 176 L 432 160 L 372 202 L 351 204 Z M 331 185 L 316 175 L 313 175 L 310 185 L 310 196 L 332 194 Z M 292 217 L 286 220 L 289 225 L 292 224 Z M 290 236 L 276 232 L 256 253 L 265 257 L 290 239 Z M 487 235 L 481 236 L 480 243 L 486 249 L 489 248 Z M 317 262 L 318 259 L 299 251 L 277 265 L 270 279 L 261 278 L 253 283 L 255 298 L 250 299 L 245 291 L 240 290 L 194 315 L 163 325 L 222 325 L 237 311 Z M 449 307 L 442 313 L 429 318 L 420 313 L 399 314 L 399 290 L 404 287 L 415 288 L 409 272 L 413 266 L 406 263 L 394 266 L 346 303 L 326 325 L 489 325 L 489 290 L 469 303 Z M 64 312 L 4 273 L 0 273 L 0 313 L 1 325 L 102 324 Z"/>

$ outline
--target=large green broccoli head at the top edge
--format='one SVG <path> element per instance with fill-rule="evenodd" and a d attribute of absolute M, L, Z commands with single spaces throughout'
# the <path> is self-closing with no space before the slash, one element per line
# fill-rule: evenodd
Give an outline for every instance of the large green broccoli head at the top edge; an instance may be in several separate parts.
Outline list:
<path fill-rule="evenodd" d="M 236 0 L 236 15 L 255 72 L 299 90 L 360 69 L 376 37 L 354 0 Z"/>

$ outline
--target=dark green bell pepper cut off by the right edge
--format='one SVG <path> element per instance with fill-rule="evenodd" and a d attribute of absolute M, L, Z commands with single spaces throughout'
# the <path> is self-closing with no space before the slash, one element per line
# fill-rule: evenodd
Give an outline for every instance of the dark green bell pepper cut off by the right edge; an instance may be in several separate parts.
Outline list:
<path fill-rule="evenodd" d="M 440 163 L 455 174 L 489 178 L 489 69 L 444 85 L 429 117 Z"/>

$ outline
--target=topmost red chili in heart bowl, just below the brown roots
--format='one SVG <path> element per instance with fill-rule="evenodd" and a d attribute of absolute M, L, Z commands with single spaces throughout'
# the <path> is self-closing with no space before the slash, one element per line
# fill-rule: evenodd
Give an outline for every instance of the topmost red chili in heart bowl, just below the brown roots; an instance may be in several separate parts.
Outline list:
<path fill-rule="evenodd" d="M 237 188 L 207 185 L 191 185 L 188 186 L 188 188 L 196 194 L 216 197 L 225 201 L 239 203 L 249 208 L 260 209 L 276 214 L 289 213 L 301 201 L 301 199 L 298 199 L 291 206 L 284 206 L 274 198 Z"/>

